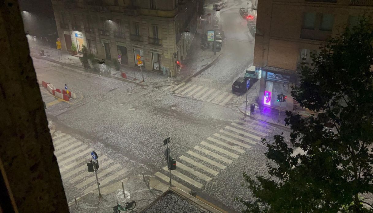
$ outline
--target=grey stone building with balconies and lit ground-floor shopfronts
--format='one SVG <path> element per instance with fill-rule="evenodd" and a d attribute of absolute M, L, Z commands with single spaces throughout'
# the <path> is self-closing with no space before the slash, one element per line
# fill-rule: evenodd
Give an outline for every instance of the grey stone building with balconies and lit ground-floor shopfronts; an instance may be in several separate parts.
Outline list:
<path fill-rule="evenodd" d="M 62 50 L 84 44 L 107 61 L 176 75 L 197 30 L 201 0 L 52 0 Z M 200 11 L 198 11 L 200 10 Z M 201 12 L 202 10 L 202 12 Z"/>

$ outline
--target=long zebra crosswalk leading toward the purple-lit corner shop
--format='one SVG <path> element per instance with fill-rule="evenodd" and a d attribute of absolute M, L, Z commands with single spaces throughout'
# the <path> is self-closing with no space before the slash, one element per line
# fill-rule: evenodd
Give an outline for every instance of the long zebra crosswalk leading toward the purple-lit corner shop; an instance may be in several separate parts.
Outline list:
<path fill-rule="evenodd" d="M 203 188 L 274 129 L 250 119 L 230 123 L 176 158 L 177 169 L 171 172 L 172 184 L 186 192 L 191 187 Z M 168 172 L 166 166 L 154 176 L 169 182 Z"/>

